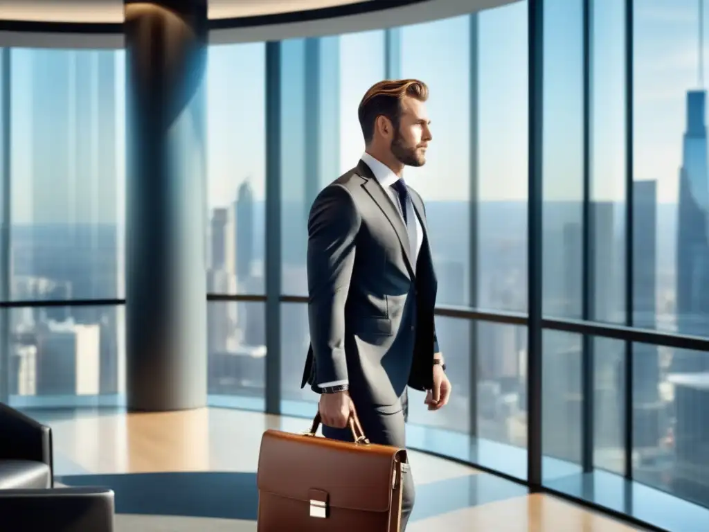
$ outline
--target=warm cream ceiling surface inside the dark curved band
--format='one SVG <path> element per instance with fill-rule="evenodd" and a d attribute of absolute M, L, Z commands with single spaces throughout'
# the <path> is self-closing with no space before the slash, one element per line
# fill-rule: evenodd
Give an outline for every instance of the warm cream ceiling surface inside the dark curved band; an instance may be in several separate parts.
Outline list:
<path fill-rule="evenodd" d="M 372 0 L 208 0 L 209 18 L 240 18 L 323 9 Z M 396 0 L 378 0 L 387 7 Z M 121 23 L 123 0 L 0 0 L 0 19 L 31 22 Z"/>

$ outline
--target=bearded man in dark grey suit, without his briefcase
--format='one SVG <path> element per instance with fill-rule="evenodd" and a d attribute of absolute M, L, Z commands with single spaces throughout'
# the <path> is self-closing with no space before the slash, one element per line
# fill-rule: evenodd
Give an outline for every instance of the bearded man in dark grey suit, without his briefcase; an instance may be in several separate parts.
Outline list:
<path fill-rule="evenodd" d="M 353 411 L 372 443 L 405 447 L 406 386 L 429 410 L 451 386 L 433 320 L 437 281 L 423 201 L 403 181 L 432 139 L 428 87 L 416 79 L 375 84 L 359 104 L 366 151 L 335 179 L 308 218 L 311 348 L 303 383 L 320 395 L 323 436 L 352 440 Z M 413 509 L 404 476 L 401 531 Z"/>

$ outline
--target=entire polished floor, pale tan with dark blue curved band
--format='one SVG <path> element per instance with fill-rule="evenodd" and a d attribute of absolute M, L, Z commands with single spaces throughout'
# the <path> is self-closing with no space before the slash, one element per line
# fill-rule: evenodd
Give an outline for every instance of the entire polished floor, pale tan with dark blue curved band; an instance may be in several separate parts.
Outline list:
<path fill-rule="evenodd" d="M 230 409 L 32 415 L 52 427 L 58 482 L 116 492 L 119 531 L 255 531 L 262 432 L 308 428 L 306 419 Z M 417 489 L 408 532 L 637 530 L 423 453 L 412 452 L 411 465 Z"/>

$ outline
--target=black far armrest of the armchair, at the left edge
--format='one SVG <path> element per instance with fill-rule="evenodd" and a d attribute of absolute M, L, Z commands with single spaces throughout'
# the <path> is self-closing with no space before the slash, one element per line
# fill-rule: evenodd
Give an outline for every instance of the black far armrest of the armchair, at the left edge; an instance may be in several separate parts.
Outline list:
<path fill-rule="evenodd" d="M 0 459 L 44 462 L 53 482 L 52 429 L 0 403 Z"/>

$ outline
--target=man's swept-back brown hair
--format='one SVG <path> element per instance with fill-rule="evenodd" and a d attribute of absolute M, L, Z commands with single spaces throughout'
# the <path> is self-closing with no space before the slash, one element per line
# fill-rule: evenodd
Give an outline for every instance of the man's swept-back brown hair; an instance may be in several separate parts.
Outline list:
<path fill-rule="evenodd" d="M 364 94 L 364 98 L 359 102 L 357 115 L 365 143 L 369 144 L 374 137 L 374 123 L 378 116 L 386 116 L 391 120 L 394 128 L 398 129 L 401 119 L 401 100 L 406 96 L 426 101 L 428 87 L 418 79 L 385 79 L 372 85 L 367 94 Z"/>

